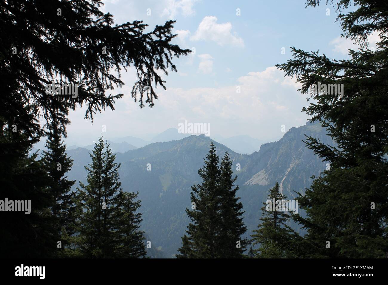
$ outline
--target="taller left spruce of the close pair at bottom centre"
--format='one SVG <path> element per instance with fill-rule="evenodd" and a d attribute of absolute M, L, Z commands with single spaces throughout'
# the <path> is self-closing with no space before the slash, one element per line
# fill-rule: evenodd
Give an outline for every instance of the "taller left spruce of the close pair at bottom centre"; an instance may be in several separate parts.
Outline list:
<path fill-rule="evenodd" d="M 177 258 L 218 258 L 222 254 L 222 245 L 218 244 L 222 226 L 219 156 L 213 141 L 204 163 L 204 167 L 198 170 L 202 183 L 191 187 L 191 204 L 194 209 L 186 208 L 191 222 L 187 226 L 187 235 L 182 238 L 184 244 L 178 249 L 181 254 Z"/>

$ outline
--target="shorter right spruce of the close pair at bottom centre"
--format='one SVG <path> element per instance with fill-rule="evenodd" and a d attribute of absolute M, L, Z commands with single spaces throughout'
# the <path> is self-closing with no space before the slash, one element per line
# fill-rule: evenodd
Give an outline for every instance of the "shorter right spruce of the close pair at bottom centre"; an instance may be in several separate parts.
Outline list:
<path fill-rule="evenodd" d="M 222 258 L 241 258 L 246 250 L 248 240 L 241 236 L 246 232 L 246 226 L 242 221 L 242 203 L 240 197 L 236 197 L 238 186 L 234 186 L 237 176 L 234 178 L 232 160 L 229 153 L 225 152 L 220 164 L 220 217 L 222 226 L 219 233 L 219 245 L 222 249 Z"/>

